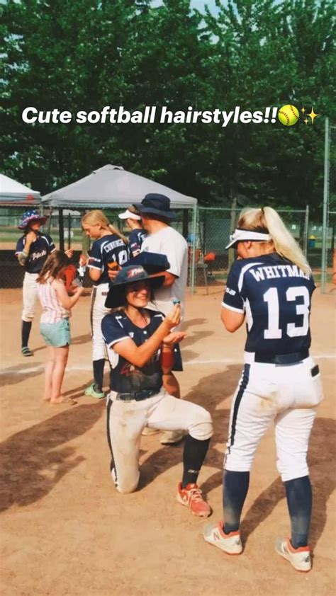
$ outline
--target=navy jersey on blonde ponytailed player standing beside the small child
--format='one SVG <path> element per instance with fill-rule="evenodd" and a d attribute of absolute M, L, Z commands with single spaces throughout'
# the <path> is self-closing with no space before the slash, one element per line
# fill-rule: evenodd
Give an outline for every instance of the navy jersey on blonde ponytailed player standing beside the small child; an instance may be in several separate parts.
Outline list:
<path fill-rule="evenodd" d="M 107 234 L 107 236 L 94 241 L 89 251 L 87 266 L 101 271 L 101 277 L 94 282 L 94 285 L 105 284 L 110 281 L 107 264 L 113 261 L 121 267 L 125 265 L 128 261 L 128 250 L 123 239 L 119 238 L 117 234 Z"/>

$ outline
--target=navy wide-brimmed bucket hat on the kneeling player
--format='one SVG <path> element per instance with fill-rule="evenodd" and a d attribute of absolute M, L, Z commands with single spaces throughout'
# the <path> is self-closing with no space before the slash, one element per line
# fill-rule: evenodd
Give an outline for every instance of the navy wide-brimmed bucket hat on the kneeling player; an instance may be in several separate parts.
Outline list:
<path fill-rule="evenodd" d="M 157 290 L 164 282 L 164 275 L 151 277 L 141 265 L 128 265 L 119 271 L 108 290 L 105 306 L 107 309 L 116 309 L 124 306 L 124 290 L 128 284 L 147 281 L 152 290 Z"/>

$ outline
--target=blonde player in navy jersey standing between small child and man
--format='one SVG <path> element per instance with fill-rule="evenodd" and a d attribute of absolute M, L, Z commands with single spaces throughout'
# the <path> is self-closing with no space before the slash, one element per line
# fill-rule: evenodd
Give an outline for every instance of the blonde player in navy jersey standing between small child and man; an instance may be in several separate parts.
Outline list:
<path fill-rule="evenodd" d="M 109 280 L 116 276 L 128 261 L 126 239 L 118 229 L 109 224 L 102 211 L 89 211 L 82 217 L 82 227 L 87 236 L 94 239 L 89 251 L 87 267 L 94 282 L 91 301 L 92 360 L 94 383 L 85 390 L 85 395 L 101 399 L 103 392 L 103 368 L 106 348 L 101 333 L 101 320 L 109 310 L 105 307 Z"/>

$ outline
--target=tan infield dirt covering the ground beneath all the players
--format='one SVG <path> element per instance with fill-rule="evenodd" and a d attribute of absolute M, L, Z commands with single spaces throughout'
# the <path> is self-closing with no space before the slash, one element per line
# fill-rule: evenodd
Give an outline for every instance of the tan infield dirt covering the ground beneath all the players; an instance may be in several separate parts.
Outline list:
<path fill-rule="evenodd" d="M 189 297 L 182 345 L 182 395 L 205 406 L 215 435 L 200 484 L 220 520 L 230 398 L 242 369 L 245 331 L 225 332 L 222 290 Z M 335 296 L 335 294 L 334 294 Z M 41 401 L 45 346 L 33 323 L 34 356 L 20 353 L 21 291 L 1 290 L 1 593 L 4 596 L 330 596 L 335 593 L 335 299 L 313 298 L 312 355 L 325 400 L 310 440 L 313 483 L 309 574 L 274 552 L 289 534 L 274 433 L 257 452 L 244 509 L 240 557 L 202 538 L 206 522 L 177 503 L 183 442 L 142 437 L 140 488 L 116 492 L 109 475 L 105 403 L 85 397 L 91 382 L 89 296 L 74 309 L 65 394 L 77 405 Z M 107 367 L 106 367 L 107 372 Z M 107 386 L 107 375 L 106 375 Z"/>

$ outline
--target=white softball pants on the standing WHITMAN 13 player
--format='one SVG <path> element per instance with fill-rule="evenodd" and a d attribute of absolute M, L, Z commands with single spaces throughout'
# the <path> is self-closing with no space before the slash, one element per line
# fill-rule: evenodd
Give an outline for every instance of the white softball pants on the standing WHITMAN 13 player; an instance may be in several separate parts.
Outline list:
<path fill-rule="evenodd" d="M 246 353 L 245 353 L 246 354 Z M 295 365 L 247 362 L 230 413 L 224 468 L 250 471 L 262 436 L 274 421 L 277 469 L 284 482 L 308 476 L 307 451 L 316 406 L 323 399 L 320 373 L 309 357 Z"/>

